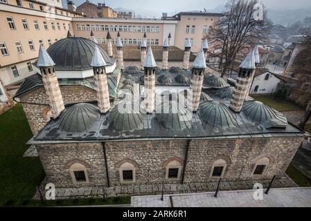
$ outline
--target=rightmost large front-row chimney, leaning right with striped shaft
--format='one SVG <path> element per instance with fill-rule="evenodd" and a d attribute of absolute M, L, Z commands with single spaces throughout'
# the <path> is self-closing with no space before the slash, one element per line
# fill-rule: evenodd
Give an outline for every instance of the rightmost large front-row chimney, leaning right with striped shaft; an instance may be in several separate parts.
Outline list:
<path fill-rule="evenodd" d="M 239 113 L 242 109 L 245 97 L 248 95 L 249 84 L 256 70 L 254 50 L 251 50 L 244 61 L 240 64 L 240 71 L 233 95 L 230 101 L 230 108 Z"/>

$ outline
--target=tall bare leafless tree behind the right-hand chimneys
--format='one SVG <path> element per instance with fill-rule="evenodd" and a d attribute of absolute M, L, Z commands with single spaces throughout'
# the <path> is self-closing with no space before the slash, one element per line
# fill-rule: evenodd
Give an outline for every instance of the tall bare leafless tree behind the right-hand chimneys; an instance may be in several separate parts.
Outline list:
<path fill-rule="evenodd" d="M 213 30 L 213 42 L 222 44 L 220 70 L 222 77 L 233 66 L 237 55 L 245 54 L 265 39 L 272 23 L 267 19 L 265 6 L 259 10 L 257 0 L 230 0 L 226 3 L 227 12 Z M 260 17 L 256 17 L 257 13 Z M 259 18 L 259 19 L 258 19 Z"/>

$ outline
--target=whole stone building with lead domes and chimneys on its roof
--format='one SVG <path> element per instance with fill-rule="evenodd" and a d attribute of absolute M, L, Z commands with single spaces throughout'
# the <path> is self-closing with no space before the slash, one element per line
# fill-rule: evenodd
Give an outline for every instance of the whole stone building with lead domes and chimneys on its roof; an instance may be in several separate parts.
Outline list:
<path fill-rule="evenodd" d="M 76 44 L 84 57 L 71 53 Z M 62 46 L 68 47 L 65 52 Z M 46 180 L 57 188 L 280 178 L 305 132 L 247 94 L 238 99 L 240 109 L 230 106 L 233 95 L 243 91 L 239 85 L 249 86 L 245 82 L 256 68 L 252 56 L 242 64 L 233 88 L 222 77 L 204 73 L 203 50 L 189 69 L 182 69 L 184 61 L 162 70 L 148 48 L 144 70 L 127 66 L 121 73 L 94 41 L 57 41 L 46 57 L 55 59 L 65 108 L 43 120 L 42 112 L 51 106 L 40 78 L 44 73 L 26 79 L 17 96 L 35 132 L 28 144 L 37 148 Z M 107 77 L 103 86 L 109 87 L 111 108 L 105 113 L 97 106 L 105 97 L 95 93 L 90 69 Z"/>

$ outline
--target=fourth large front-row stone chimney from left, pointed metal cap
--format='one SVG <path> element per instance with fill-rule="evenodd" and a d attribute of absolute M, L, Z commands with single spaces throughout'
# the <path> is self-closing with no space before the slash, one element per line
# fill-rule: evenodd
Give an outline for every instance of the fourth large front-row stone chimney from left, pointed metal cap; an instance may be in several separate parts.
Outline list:
<path fill-rule="evenodd" d="M 204 79 L 204 70 L 206 68 L 203 49 L 199 50 L 195 61 L 193 61 L 192 67 L 193 68 L 190 89 L 193 93 L 193 111 L 197 111 L 197 108 L 199 108 L 199 98 L 201 96 L 202 84 Z"/>

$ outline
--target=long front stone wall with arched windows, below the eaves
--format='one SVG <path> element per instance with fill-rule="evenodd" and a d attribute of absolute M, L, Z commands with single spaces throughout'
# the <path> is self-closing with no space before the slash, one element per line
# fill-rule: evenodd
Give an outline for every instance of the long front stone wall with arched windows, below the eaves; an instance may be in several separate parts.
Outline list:
<path fill-rule="evenodd" d="M 274 175 L 281 178 L 303 137 L 258 137 L 191 140 L 186 162 L 185 183 L 215 182 L 210 177 L 213 162 L 227 162 L 224 181 L 267 180 Z M 107 168 L 110 186 L 123 185 L 119 167 L 123 162 L 135 165 L 134 184 L 159 184 L 166 174 L 166 165 L 172 160 L 181 163 L 178 180 L 166 183 L 181 183 L 186 157 L 187 140 L 154 140 L 133 142 L 106 142 Z M 105 160 L 101 143 L 89 144 L 39 144 L 36 145 L 48 180 L 59 187 L 75 187 L 65 165 L 72 160 L 81 160 L 89 165 L 90 184 L 107 185 Z M 262 157 L 269 159 L 264 175 L 252 175 L 256 162 Z M 128 184 L 128 183 L 127 183 Z M 125 184 L 126 185 L 126 184 Z"/>

